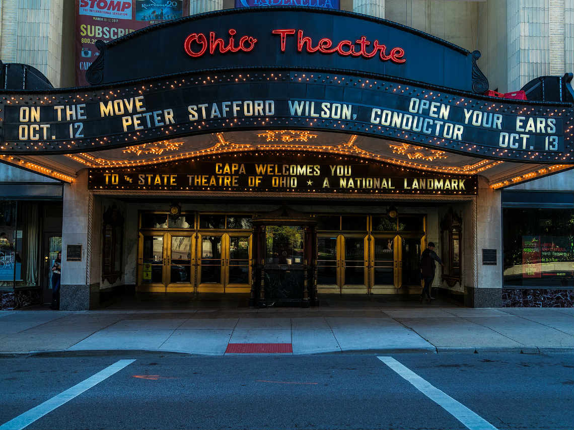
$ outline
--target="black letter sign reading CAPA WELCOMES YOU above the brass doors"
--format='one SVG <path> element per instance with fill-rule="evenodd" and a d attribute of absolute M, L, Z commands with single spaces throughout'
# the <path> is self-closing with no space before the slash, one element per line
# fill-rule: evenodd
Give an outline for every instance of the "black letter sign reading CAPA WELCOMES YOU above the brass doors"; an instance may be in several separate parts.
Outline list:
<path fill-rule="evenodd" d="M 138 168 L 90 169 L 89 189 L 476 195 L 476 176 L 429 173 L 355 157 L 245 152 Z"/>

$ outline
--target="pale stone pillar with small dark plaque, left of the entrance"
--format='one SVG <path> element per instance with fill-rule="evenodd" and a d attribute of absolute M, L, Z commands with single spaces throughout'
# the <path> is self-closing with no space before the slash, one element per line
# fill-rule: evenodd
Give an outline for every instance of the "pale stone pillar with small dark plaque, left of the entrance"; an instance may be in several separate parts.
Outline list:
<path fill-rule="evenodd" d="M 88 171 L 80 172 L 72 184 L 64 186 L 62 216 L 62 275 L 60 309 L 90 309 L 90 257 L 94 198 L 88 191 Z M 98 237 L 96 234 L 95 237 Z M 67 261 L 68 245 L 81 245 L 80 261 Z M 99 290 L 99 284 L 94 285 Z"/>

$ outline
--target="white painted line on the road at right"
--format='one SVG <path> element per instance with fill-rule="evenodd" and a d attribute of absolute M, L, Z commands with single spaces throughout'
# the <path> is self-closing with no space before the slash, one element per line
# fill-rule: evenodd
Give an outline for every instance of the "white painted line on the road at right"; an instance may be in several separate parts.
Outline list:
<path fill-rule="evenodd" d="M 402 365 L 400 362 L 395 360 L 393 357 L 377 357 L 395 372 L 397 372 L 402 378 L 406 379 L 408 382 L 412 383 L 414 388 L 419 390 L 426 397 L 430 398 L 433 402 L 442 406 L 449 414 L 463 423 L 470 430 L 497 430 L 494 425 L 488 423 L 482 417 L 472 412 L 466 406 L 457 402 L 448 394 L 442 392 L 435 386 L 431 385 L 430 382 L 425 381 L 408 367 Z"/>

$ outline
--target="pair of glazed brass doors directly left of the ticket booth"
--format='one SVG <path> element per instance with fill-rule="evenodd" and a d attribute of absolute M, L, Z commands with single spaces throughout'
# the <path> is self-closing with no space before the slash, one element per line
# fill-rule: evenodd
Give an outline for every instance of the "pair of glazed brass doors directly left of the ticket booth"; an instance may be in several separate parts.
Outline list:
<path fill-rule="evenodd" d="M 251 234 L 201 233 L 197 246 L 197 291 L 251 291 Z"/>

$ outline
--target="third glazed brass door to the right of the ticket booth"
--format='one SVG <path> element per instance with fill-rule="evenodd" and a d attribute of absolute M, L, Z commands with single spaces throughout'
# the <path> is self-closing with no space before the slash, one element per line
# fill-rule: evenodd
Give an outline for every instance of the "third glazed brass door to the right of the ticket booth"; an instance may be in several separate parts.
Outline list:
<path fill-rule="evenodd" d="M 370 286 L 374 294 L 401 288 L 401 241 L 394 235 L 374 235 L 370 240 Z"/>

